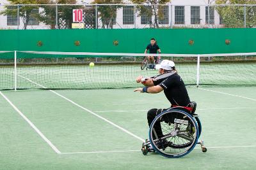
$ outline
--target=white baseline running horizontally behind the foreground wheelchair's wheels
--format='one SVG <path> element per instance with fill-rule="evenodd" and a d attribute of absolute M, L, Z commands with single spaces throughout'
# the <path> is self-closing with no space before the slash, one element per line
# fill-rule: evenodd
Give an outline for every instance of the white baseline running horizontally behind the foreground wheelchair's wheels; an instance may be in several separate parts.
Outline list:
<path fill-rule="evenodd" d="M 248 145 L 248 146 L 212 146 L 207 147 L 207 149 L 225 149 L 225 148 L 255 148 L 256 145 Z M 194 148 L 201 149 L 201 148 Z M 95 152 L 62 152 L 61 154 L 90 154 L 90 153 L 118 153 L 118 152 L 141 152 L 141 150 L 113 150 L 113 151 L 95 151 Z"/>

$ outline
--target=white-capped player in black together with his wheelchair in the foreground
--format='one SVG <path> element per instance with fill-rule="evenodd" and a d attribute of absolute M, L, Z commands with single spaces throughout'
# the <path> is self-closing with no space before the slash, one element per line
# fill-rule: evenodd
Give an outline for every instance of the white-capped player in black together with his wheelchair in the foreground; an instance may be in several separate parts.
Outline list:
<path fill-rule="evenodd" d="M 196 122 L 193 115 L 192 116 L 190 115 L 190 113 L 193 114 L 195 112 L 196 103 L 194 102 L 191 103 L 184 81 L 177 73 L 177 70 L 175 69 L 175 64 L 173 61 L 163 60 L 161 64 L 156 65 L 156 69 L 159 69 L 158 76 L 155 76 L 152 78 L 143 78 L 143 76 L 138 76 L 136 78 L 136 82 L 142 83 L 143 85 L 145 85 L 145 87 L 135 89 L 134 92 L 157 94 L 159 92 L 164 91 L 166 98 L 168 99 L 168 101 L 170 101 L 171 107 L 167 109 L 153 108 L 148 111 L 147 120 L 148 120 L 148 126 L 150 127 L 150 131 L 152 130 L 151 131 L 152 139 L 150 140 L 150 143 L 149 142 L 147 143 L 146 141 L 145 143 L 147 144 L 143 143 L 143 145 L 144 146 L 148 145 L 147 150 L 149 152 L 158 150 L 161 155 L 166 157 L 175 157 L 175 156 L 182 157 L 187 153 L 189 153 L 191 150 L 193 150 L 200 136 L 200 131 L 201 131 L 200 120 L 196 118 L 196 120 L 198 121 Z M 175 113 L 172 113 L 172 116 L 170 116 L 171 114 L 167 115 L 166 113 L 166 115 L 163 115 L 162 117 L 158 117 L 158 115 L 161 115 L 161 113 L 164 114 L 164 112 L 168 112 L 168 110 L 170 110 L 169 112 L 173 112 L 172 108 L 179 108 L 181 109 L 181 111 L 176 110 Z M 167 125 L 165 125 L 164 127 L 161 127 L 162 125 L 161 122 L 166 122 Z M 152 125 L 152 123 L 154 125 Z M 170 123 L 173 123 L 174 127 L 172 126 L 172 128 L 175 131 L 174 130 L 170 131 L 169 130 L 170 127 L 168 127 L 169 129 L 166 128 L 166 130 L 163 130 L 165 127 L 170 125 Z M 182 130 L 182 127 L 184 127 L 183 130 Z M 163 131 L 166 134 L 163 134 Z M 166 131 L 170 131 L 170 132 L 167 133 Z M 175 144 L 175 141 L 170 142 L 167 140 L 168 139 L 167 136 L 173 137 L 173 138 L 174 137 L 176 138 L 177 136 L 179 136 L 180 141 L 183 144 L 182 145 L 180 143 Z M 153 148 L 152 148 L 152 142 L 155 145 L 155 147 L 153 146 Z M 202 150 L 204 148 L 206 152 L 206 148 L 204 147 L 203 143 L 200 143 L 200 144 L 202 146 Z M 165 148 L 168 146 L 172 148 L 182 148 L 187 153 L 185 151 L 180 152 L 179 154 L 163 152 L 163 150 L 165 150 Z"/>

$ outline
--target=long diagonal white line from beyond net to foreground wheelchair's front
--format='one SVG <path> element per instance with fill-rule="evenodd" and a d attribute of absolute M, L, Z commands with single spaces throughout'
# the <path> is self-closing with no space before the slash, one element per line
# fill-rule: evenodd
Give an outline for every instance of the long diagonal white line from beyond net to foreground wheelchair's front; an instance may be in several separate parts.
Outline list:
<path fill-rule="evenodd" d="M 20 75 L 18 75 L 18 76 L 20 76 Z M 40 85 L 40 84 L 38 84 L 38 83 L 36 83 L 36 82 L 30 80 L 29 78 L 26 78 L 26 77 L 24 77 L 24 76 L 20 76 L 20 77 L 21 77 L 21 78 L 24 78 L 24 79 L 26 79 L 26 80 L 28 80 L 28 81 L 30 81 L 31 83 L 35 83 L 36 85 L 38 85 L 38 86 L 40 86 L 40 87 L 42 87 L 42 88 L 44 88 L 44 89 L 47 89 L 47 88 L 44 87 L 43 85 Z M 58 96 L 60 96 L 60 97 L 62 97 L 63 99 L 69 101 L 70 103 L 76 105 L 77 107 L 79 107 L 79 108 L 81 108 L 81 109 L 83 109 L 83 110 L 85 110 L 85 111 L 88 111 L 88 112 L 91 113 L 92 115 L 95 115 L 95 117 L 98 117 L 98 118 L 100 118 L 100 119 L 102 119 L 102 120 L 108 122 L 109 124 L 111 124 L 111 125 L 117 127 L 117 128 L 120 129 L 121 131 L 124 131 L 125 133 L 127 133 L 127 134 L 133 136 L 134 138 L 139 139 L 140 141 L 145 141 L 144 139 L 140 138 L 139 136 L 136 136 L 136 134 L 133 134 L 132 132 L 129 132 L 129 131 L 127 131 L 126 129 L 124 129 L 123 127 L 120 127 L 119 125 L 114 124 L 113 122 L 109 121 L 108 119 L 106 119 L 106 118 L 104 118 L 104 117 L 101 117 L 100 115 L 97 115 L 97 114 L 94 113 L 93 111 L 90 111 L 90 110 L 84 108 L 83 106 L 81 106 L 81 105 L 75 103 L 74 101 L 68 99 L 67 97 L 62 96 L 61 94 L 58 94 L 58 93 L 55 92 L 54 90 L 49 90 L 49 91 L 52 92 L 52 93 L 54 93 L 54 94 L 56 94 L 56 95 L 58 95 Z"/>

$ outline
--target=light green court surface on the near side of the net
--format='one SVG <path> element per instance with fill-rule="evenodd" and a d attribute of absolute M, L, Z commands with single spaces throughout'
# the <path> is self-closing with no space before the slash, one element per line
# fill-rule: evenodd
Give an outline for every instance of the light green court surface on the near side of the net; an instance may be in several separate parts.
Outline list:
<path fill-rule="evenodd" d="M 256 167 L 255 87 L 188 87 L 208 150 L 197 145 L 179 159 L 141 153 L 147 110 L 169 103 L 163 93 L 132 90 L 1 91 L 0 169 Z"/>

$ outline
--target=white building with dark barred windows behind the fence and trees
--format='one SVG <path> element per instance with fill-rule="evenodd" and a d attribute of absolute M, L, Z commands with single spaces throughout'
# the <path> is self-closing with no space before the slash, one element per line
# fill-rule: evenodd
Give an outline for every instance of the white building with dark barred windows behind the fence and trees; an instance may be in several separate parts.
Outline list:
<path fill-rule="evenodd" d="M 90 4 L 92 0 L 77 1 L 77 4 Z M 171 3 L 163 6 L 163 15 L 159 19 L 159 27 L 208 27 L 208 11 L 209 22 L 211 27 L 221 27 L 220 16 L 213 8 L 208 10 L 208 3 L 214 1 L 208 0 L 172 0 Z M 0 0 L 0 12 L 4 10 L 3 4 L 9 4 L 6 0 Z M 130 4 L 126 1 L 126 4 Z M 17 8 L 17 6 L 8 6 L 8 8 Z M 147 7 L 145 7 L 147 8 Z M 93 9 L 95 9 L 93 7 Z M 122 6 L 116 11 L 116 18 L 113 20 L 113 28 L 148 28 L 154 23 L 154 15 L 147 16 L 138 10 L 134 10 L 134 6 Z M 41 9 L 42 10 L 42 9 Z M 35 10 L 35 13 L 40 12 Z M 70 16 L 72 17 L 72 16 Z M 94 17 L 95 18 L 95 17 Z M 99 28 L 102 26 L 100 17 L 96 18 Z M 50 25 L 38 22 L 31 17 L 27 29 L 50 29 Z M 0 29 L 24 29 L 22 19 L 19 18 L 19 26 L 17 25 L 16 16 L 0 15 Z"/>

